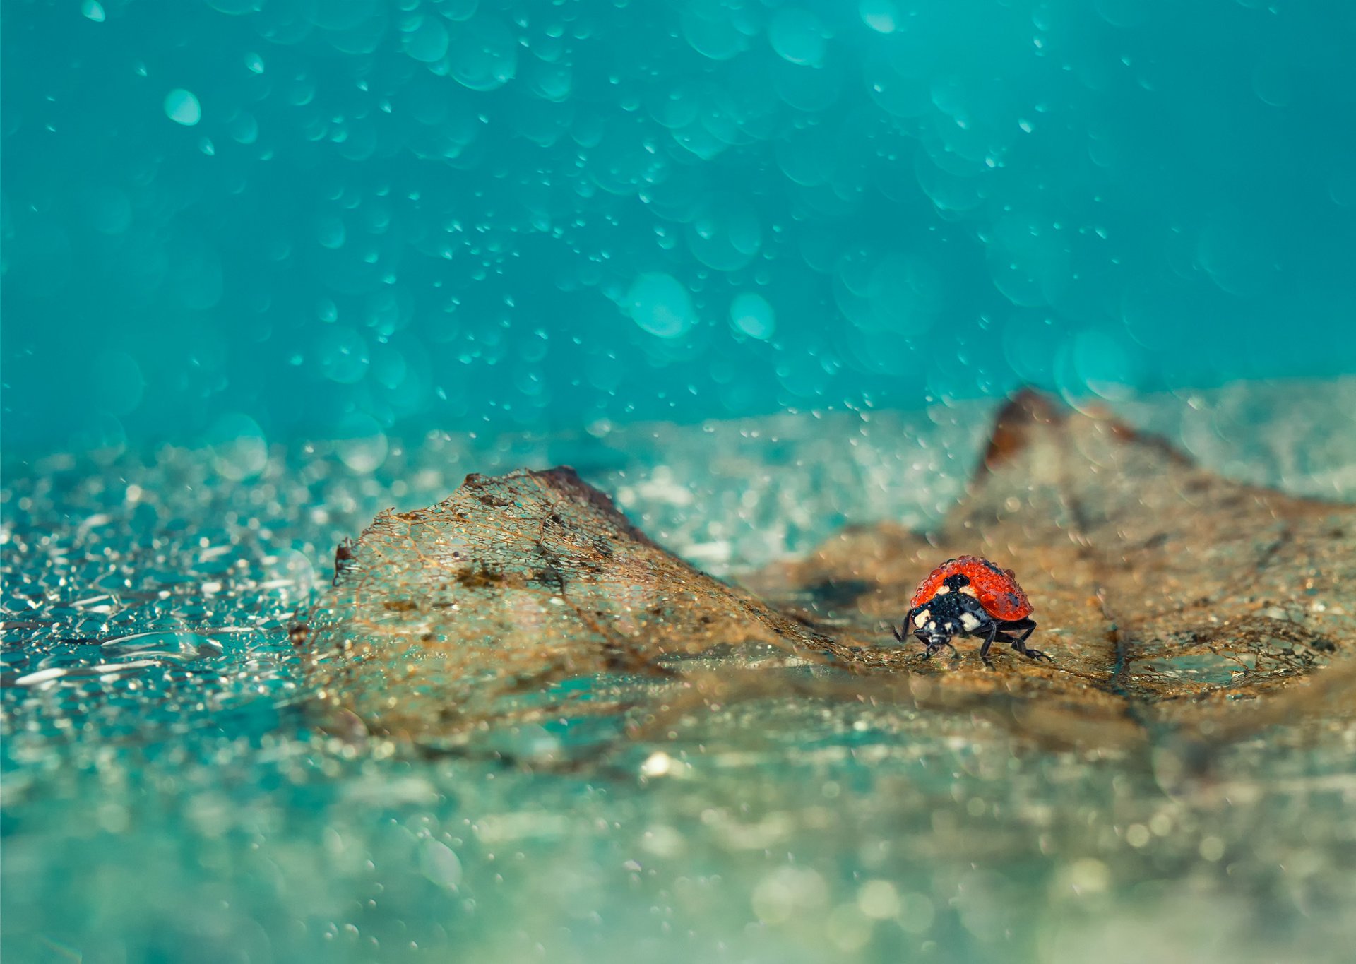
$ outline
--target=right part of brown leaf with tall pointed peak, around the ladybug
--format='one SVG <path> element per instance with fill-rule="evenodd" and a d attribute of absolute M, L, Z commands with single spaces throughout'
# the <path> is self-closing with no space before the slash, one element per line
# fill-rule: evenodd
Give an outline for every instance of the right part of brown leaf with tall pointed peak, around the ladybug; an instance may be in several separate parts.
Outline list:
<path fill-rule="evenodd" d="M 1292 719 L 1318 690 L 1265 712 L 1258 701 L 1344 662 L 1356 641 L 1356 510 L 1230 483 L 1115 419 L 1031 393 L 999 415 L 938 533 L 853 530 L 757 584 L 784 603 L 795 599 L 784 587 L 799 587 L 808 614 L 868 644 L 932 565 L 964 552 L 1018 572 L 1036 601 L 1033 643 L 1055 666 L 1012 654 L 990 674 L 972 658 L 919 666 L 880 647 L 869 659 L 903 660 L 953 693 L 1002 690 L 1020 701 L 1018 729 L 1069 743 Z M 815 599 L 824 587 L 837 587 L 833 603 Z M 1348 674 L 1322 674 L 1323 694 L 1351 694 L 1336 686 Z"/>

